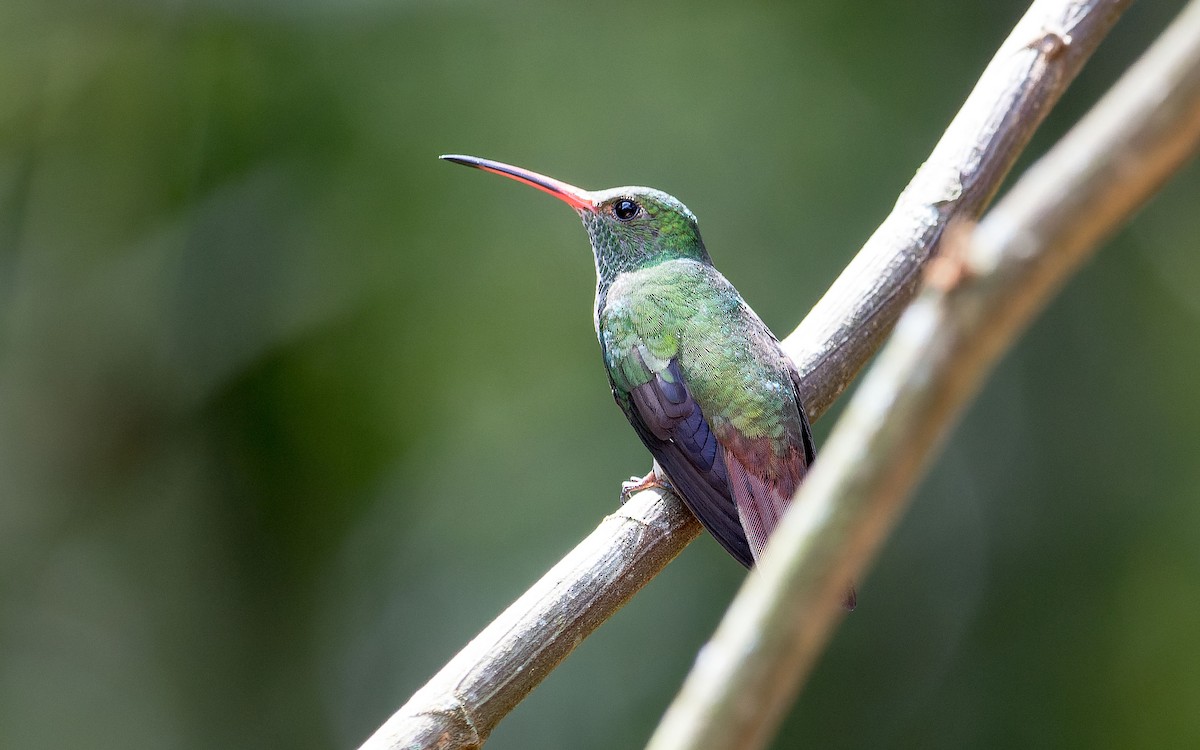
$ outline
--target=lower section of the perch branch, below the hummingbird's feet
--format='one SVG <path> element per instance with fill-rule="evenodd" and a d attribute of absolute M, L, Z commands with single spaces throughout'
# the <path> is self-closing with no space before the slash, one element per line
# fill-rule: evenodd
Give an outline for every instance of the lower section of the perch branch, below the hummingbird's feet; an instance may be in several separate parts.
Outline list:
<path fill-rule="evenodd" d="M 480 748 L 580 641 L 700 534 L 673 494 L 640 492 L 512 602 L 362 750 Z"/>

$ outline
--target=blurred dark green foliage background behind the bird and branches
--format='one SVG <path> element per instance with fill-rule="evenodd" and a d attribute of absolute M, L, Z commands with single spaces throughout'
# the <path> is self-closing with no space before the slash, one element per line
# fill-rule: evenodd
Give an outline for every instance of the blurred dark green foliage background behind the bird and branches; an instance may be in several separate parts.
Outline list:
<path fill-rule="evenodd" d="M 648 467 L 576 218 L 438 154 L 679 196 L 786 334 L 1022 11 L 0 4 L 0 746 L 356 746 Z M 1198 187 L 1007 356 L 776 748 L 1200 744 Z M 694 544 L 488 748 L 640 746 L 742 578 Z"/>

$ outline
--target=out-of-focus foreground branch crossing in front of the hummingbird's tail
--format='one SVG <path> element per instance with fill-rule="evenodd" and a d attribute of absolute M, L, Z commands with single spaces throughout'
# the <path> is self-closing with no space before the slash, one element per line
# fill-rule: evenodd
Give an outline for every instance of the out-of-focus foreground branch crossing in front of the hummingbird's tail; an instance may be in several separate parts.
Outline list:
<path fill-rule="evenodd" d="M 863 575 L 991 366 L 1096 245 L 1198 148 L 1193 0 L 930 269 L 650 750 L 752 750 L 770 739 L 840 617 L 845 582 Z"/>

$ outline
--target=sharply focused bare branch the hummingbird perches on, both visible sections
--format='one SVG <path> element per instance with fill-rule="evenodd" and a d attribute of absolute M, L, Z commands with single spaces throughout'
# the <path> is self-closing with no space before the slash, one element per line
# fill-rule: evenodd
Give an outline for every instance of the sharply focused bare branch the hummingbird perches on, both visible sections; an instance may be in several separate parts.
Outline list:
<path fill-rule="evenodd" d="M 895 209 L 784 342 L 816 419 L 912 299 L 952 220 L 978 217 L 1069 82 L 1132 0 L 1036 0 Z M 1064 40 L 1070 43 L 1063 43 Z M 648 491 L 580 545 L 418 690 L 364 750 L 478 748 L 554 666 L 700 533 Z"/>

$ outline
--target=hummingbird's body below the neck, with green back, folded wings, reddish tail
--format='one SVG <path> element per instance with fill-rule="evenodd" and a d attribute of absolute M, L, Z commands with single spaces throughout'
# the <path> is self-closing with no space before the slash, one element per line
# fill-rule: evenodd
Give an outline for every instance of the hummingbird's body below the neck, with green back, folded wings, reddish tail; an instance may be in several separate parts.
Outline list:
<path fill-rule="evenodd" d="M 665 263 L 614 284 L 596 330 L 642 443 L 704 527 L 752 565 L 812 462 L 794 365 L 702 264 Z"/>

